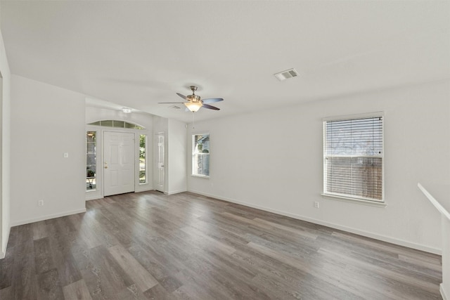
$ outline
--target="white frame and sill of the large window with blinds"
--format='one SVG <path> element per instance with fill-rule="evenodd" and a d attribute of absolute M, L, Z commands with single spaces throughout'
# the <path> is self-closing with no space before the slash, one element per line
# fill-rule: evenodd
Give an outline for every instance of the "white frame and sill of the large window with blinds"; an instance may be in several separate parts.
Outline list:
<path fill-rule="evenodd" d="M 345 120 L 352 120 L 352 119 L 366 119 L 366 118 L 373 118 L 373 117 L 381 117 L 383 118 L 382 121 L 382 127 L 381 127 L 381 154 L 380 155 L 348 155 L 348 157 L 379 157 L 381 158 L 381 199 L 375 199 L 375 198 L 368 198 L 368 197 L 359 197 L 357 195 L 348 195 L 348 194 L 340 194 L 340 193 L 330 193 L 326 190 L 327 188 L 327 169 L 326 169 L 326 158 L 330 157 L 331 155 L 326 154 L 326 148 L 327 148 L 327 129 L 326 125 L 328 122 L 335 122 L 335 121 L 345 121 Z M 384 112 L 368 112 L 364 114 L 357 114 L 357 115 L 342 115 L 342 116 L 335 116 L 335 117 L 326 117 L 322 119 L 323 122 L 323 190 L 321 195 L 323 197 L 326 197 L 330 200 L 340 200 L 345 202 L 354 202 L 358 204 L 367 204 L 374 207 L 386 207 L 386 200 L 385 200 L 385 113 Z"/>

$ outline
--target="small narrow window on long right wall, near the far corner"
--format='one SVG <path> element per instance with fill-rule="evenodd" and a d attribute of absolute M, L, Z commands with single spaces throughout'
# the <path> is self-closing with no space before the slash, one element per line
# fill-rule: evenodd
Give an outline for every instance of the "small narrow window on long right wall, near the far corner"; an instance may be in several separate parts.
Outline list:
<path fill-rule="evenodd" d="M 193 134 L 192 136 L 192 175 L 210 176 L 209 134 Z"/>

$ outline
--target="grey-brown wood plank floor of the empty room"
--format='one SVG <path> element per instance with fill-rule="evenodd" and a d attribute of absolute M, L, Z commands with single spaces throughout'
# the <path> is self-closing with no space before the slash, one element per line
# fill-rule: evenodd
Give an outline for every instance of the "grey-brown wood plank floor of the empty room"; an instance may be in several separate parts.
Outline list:
<path fill-rule="evenodd" d="M 0 299 L 442 299 L 441 257 L 191 193 L 11 228 Z"/>

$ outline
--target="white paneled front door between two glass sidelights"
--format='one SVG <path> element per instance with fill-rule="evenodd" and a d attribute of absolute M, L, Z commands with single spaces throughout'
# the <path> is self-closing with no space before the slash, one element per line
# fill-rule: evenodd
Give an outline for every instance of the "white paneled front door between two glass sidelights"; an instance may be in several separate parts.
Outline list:
<path fill-rule="evenodd" d="M 134 192 L 134 133 L 103 134 L 103 195 Z"/>

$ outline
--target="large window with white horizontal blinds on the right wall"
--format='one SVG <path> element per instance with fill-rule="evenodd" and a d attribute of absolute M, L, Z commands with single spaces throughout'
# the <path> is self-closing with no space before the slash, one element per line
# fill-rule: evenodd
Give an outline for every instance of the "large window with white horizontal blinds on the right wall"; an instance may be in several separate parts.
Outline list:
<path fill-rule="evenodd" d="M 323 122 L 323 194 L 384 202 L 383 115 Z"/>

